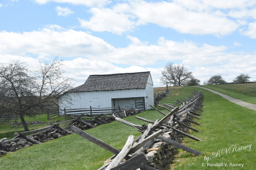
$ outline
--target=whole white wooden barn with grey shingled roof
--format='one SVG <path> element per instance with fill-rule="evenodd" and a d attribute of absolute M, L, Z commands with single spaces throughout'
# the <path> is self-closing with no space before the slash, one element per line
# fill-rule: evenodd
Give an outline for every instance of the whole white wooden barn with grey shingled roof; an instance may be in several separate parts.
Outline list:
<path fill-rule="evenodd" d="M 59 98 L 61 115 L 64 107 L 81 109 L 118 105 L 121 109 L 151 109 L 154 90 L 150 72 L 90 75 L 83 85 L 68 90 Z"/>

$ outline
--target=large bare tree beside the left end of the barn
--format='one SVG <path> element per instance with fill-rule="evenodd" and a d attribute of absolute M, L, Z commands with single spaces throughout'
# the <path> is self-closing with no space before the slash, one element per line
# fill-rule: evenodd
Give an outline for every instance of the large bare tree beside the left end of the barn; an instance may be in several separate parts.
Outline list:
<path fill-rule="evenodd" d="M 42 63 L 31 72 L 18 60 L 0 65 L 0 114 L 17 114 L 25 131 L 24 115 L 32 116 L 46 106 L 57 104 L 57 97 L 73 86 L 72 78 L 63 76 L 63 60 Z"/>

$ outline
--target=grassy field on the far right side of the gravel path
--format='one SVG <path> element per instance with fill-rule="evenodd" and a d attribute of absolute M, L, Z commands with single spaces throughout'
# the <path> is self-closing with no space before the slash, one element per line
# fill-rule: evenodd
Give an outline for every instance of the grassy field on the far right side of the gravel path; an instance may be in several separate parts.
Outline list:
<path fill-rule="evenodd" d="M 256 104 L 256 83 L 203 85 L 201 87 Z"/>

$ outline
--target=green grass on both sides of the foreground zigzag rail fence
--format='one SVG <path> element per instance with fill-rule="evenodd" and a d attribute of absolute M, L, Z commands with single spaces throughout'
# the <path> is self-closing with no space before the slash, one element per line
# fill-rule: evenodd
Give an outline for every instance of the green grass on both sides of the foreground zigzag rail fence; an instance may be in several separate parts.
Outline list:
<path fill-rule="evenodd" d="M 201 89 L 183 87 L 175 92 L 179 93 L 179 96 L 170 95 L 160 102 L 176 105 L 174 103 L 176 99 L 183 99 L 193 90 Z M 201 132 L 189 131 L 191 135 L 203 139 L 203 141 L 197 142 L 184 138 L 183 142 L 186 146 L 195 148 L 205 155 L 195 156 L 178 150 L 179 154 L 170 169 L 234 169 L 234 167 L 229 167 L 230 163 L 243 164 L 243 169 L 255 169 L 256 123 L 254 120 L 256 111 L 238 106 L 208 90 L 203 89 L 203 94 L 205 97 L 204 115 L 201 116 L 200 121 L 197 120 L 202 126 L 194 126 Z M 166 110 L 163 111 L 167 113 Z M 154 110 L 144 111 L 138 116 L 151 120 L 163 117 L 162 114 Z M 137 125 L 146 124 L 135 119 L 135 116 L 125 118 L 125 120 Z M 124 146 L 129 135 L 135 135 L 136 138 L 141 134 L 134 128 L 117 121 L 86 130 L 86 132 L 117 149 Z M 203 163 L 207 163 L 205 159 L 212 156 L 214 151 L 218 153 L 218 150 L 229 148 L 232 145 L 250 146 L 250 144 L 250 151 L 247 148 L 226 155 L 218 154 L 208 160 L 208 163 L 211 164 L 228 163 L 228 167 L 202 166 Z M 112 155 L 111 152 L 74 134 L 2 156 L 0 169 L 98 169 Z M 235 168 L 242 169 L 240 167 Z"/>

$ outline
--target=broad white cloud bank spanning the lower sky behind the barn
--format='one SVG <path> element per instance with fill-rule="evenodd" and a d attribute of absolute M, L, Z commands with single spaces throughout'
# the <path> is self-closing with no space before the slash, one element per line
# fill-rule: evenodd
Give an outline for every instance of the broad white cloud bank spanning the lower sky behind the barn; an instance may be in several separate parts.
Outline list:
<path fill-rule="evenodd" d="M 161 64 L 155 68 L 158 61 L 168 63 L 181 60 L 181 64 L 188 67 L 202 82 L 215 74 L 221 74 L 226 81 L 232 81 L 233 74 L 252 75 L 256 72 L 255 54 L 229 53 L 224 45 L 197 44 L 186 40 L 175 42 L 163 37 L 156 44 L 148 44 L 134 36 L 127 36 L 131 40 L 127 47 L 114 48 L 100 38 L 82 31 L 65 30 L 57 25 L 23 33 L 2 31 L 0 37 L 2 63 L 21 57 L 22 61 L 36 67 L 38 59 L 47 60 L 47 57 L 58 54 L 60 57 L 71 57 L 71 60 L 65 61 L 67 76 L 80 83 L 90 74 L 150 71 L 154 85 L 160 86 L 160 74 L 164 66 Z M 31 58 L 30 53 L 38 55 L 38 59 Z M 126 67 L 121 68 L 117 64 Z"/>

